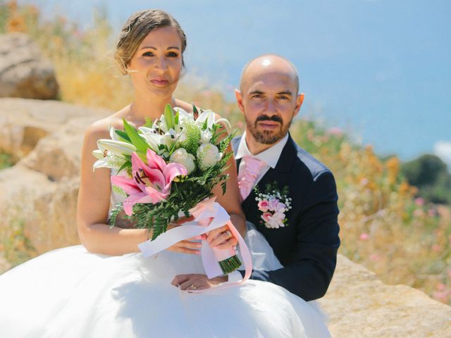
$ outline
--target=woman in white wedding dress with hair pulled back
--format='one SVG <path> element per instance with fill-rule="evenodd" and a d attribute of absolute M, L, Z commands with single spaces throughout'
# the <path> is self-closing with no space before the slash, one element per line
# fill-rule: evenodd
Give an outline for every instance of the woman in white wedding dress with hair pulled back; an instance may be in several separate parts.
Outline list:
<path fill-rule="evenodd" d="M 82 246 L 44 253 L 0 276 L 0 337 L 330 337 L 314 303 L 275 284 L 247 280 L 215 288 L 228 276 L 198 285 L 174 282 L 183 274 L 204 273 L 198 239 L 144 258 L 137 244 L 149 238 L 147 230 L 121 217 L 115 227 L 106 224 L 110 206 L 121 196 L 111 189 L 109 169 L 92 170 L 97 139 L 108 138 L 109 127 L 123 129 L 123 118 L 139 127 L 146 118 L 159 117 L 166 104 L 190 111 L 189 104 L 173 98 L 185 47 L 185 33 L 163 11 L 138 12 L 125 23 L 116 61 L 131 77 L 135 100 L 85 134 L 78 198 Z M 228 174 L 226 194 L 219 189 L 216 201 L 246 234 L 253 267 L 280 268 L 264 237 L 252 226 L 246 229 L 233 158 Z M 206 240 L 226 249 L 237 245 L 229 237 L 222 227 Z M 185 291 L 190 288 L 207 290 Z"/>

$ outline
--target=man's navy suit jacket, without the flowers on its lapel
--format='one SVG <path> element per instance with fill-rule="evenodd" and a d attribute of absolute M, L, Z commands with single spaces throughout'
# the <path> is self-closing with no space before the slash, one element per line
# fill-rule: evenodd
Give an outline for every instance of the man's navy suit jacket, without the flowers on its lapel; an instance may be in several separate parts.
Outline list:
<path fill-rule="evenodd" d="M 235 154 L 240 139 L 232 140 Z M 292 208 L 285 213 L 288 225 L 278 229 L 265 227 L 253 190 L 242 201 L 242 208 L 246 220 L 266 237 L 283 268 L 253 270 L 251 279 L 278 284 L 305 301 L 319 299 L 326 294 L 332 279 L 340 246 L 333 175 L 289 137 L 276 168 L 269 168 L 258 182 L 259 191 L 265 192 L 269 182 L 277 182 L 280 190 L 285 186 L 289 189 Z"/>

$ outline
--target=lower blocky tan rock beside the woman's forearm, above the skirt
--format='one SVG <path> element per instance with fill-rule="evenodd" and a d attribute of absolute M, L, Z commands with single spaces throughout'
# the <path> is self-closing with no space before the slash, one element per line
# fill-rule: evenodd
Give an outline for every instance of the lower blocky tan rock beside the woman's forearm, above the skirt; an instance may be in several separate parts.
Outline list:
<path fill-rule="evenodd" d="M 23 165 L 0 170 L 0 237 L 15 223 L 36 253 L 79 244 L 76 210 L 78 177 L 52 182 Z"/>

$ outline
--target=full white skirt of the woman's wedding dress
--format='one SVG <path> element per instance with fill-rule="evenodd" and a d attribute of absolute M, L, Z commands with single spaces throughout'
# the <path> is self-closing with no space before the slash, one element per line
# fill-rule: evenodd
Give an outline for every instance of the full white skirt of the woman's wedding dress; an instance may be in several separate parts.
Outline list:
<path fill-rule="evenodd" d="M 257 230 L 246 242 L 254 268 L 281 267 Z M 0 337 L 330 337 L 316 302 L 282 287 L 248 280 L 193 294 L 171 285 L 183 273 L 204 273 L 200 256 L 49 251 L 0 275 Z"/>

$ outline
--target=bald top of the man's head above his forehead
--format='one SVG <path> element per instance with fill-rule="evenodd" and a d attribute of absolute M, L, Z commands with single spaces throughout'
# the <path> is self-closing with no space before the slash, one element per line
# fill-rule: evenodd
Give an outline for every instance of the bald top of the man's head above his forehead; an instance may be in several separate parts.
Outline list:
<path fill-rule="evenodd" d="M 299 76 L 297 75 L 295 65 L 286 58 L 276 54 L 257 56 L 257 58 L 253 58 L 246 63 L 245 67 L 242 68 L 240 92 L 244 93 L 245 89 L 249 87 L 249 83 L 252 82 L 252 77 L 254 77 L 254 75 L 261 75 L 263 73 L 286 74 L 292 77 L 296 87 L 295 94 L 299 92 Z"/>

